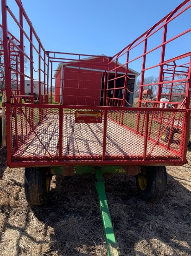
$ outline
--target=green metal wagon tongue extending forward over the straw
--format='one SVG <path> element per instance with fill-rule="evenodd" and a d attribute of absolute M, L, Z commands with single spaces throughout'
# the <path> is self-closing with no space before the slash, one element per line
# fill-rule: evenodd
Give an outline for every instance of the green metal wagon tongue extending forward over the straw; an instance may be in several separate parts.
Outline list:
<path fill-rule="evenodd" d="M 108 249 L 108 256 L 118 256 L 117 245 L 111 218 L 109 215 L 108 202 L 105 194 L 105 186 L 102 177 L 102 170 L 96 169 L 96 190 L 100 203 L 100 210 L 102 214 L 102 223 L 105 234 L 105 240 Z"/>

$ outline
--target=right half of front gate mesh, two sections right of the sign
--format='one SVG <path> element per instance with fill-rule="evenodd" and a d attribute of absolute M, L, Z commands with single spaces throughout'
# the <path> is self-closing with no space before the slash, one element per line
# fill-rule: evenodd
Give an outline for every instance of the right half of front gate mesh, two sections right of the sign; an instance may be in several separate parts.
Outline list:
<path fill-rule="evenodd" d="M 185 112 L 108 111 L 106 159 L 181 161 Z"/>

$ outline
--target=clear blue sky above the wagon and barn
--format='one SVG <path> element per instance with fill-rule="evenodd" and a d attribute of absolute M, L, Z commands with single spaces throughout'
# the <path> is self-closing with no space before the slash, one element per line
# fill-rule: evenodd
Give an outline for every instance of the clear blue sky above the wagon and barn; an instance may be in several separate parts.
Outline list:
<path fill-rule="evenodd" d="M 45 50 L 108 56 L 118 53 L 181 2 L 182 0 L 22 0 Z M 14 0 L 7 0 L 7 5 L 19 17 Z M 190 23 L 190 15 L 185 15 L 172 23 L 169 34 L 181 33 L 185 26 L 190 27 Z M 8 29 L 19 35 L 11 20 Z M 169 47 L 166 58 L 171 57 L 175 48 L 176 55 L 186 51 L 190 45 L 187 43 L 188 39 L 191 40 L 191 35 Z M 158 45 L 161 40 L 161 34 L 156 35 L 148 47 Z M 147 65 L 152 64 L 152 61 L 151 55 Z M 140 63 L 131 64 L 130 67 L 140 72 Z M 151 74 L 157 75 L 154 71 Z"/>

